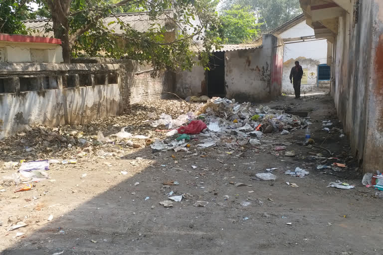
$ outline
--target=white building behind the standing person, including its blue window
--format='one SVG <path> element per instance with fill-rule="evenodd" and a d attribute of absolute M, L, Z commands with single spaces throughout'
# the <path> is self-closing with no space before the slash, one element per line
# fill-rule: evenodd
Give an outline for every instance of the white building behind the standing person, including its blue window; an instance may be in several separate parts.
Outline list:
<path fill-rule="evenodd" d="M 330 86 L 330 67 L 327 63 L 327 40 L 316 39 L 314 29 L 306 24 L 303 14 L 270 31 L 284 41 L 282 92 L 294 93 L 290 70 L 296 60 L 303 68 L 301 91 Z M 318 75 L 319 74 L 319 75 Z"/>

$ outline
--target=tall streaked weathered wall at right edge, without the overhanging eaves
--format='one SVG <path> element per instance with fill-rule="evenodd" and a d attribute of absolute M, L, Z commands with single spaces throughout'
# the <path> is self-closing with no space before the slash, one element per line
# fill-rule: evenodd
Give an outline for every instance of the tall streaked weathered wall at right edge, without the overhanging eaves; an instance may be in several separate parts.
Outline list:
<path fill-rule="evenodd" d="M 354 27 L 355 26 L 355 27 Z M 360 1 L 339 17 L 333 47 L 332 95 L 365 172 L 383 169 L 383 1 Z"/>

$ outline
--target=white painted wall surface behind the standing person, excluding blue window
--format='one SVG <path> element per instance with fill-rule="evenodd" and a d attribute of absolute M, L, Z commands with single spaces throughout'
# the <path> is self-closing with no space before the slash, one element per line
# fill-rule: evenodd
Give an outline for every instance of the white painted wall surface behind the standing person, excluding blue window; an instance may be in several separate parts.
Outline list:
<path fill-rule="evenodd" d="M 279 34 L 283 39 L 314 35 L 314 29 L 306 24 L 306 21 L 287 29 Z M 327 40 L 298 42 L 285 44 L 283 54 L 282 91 L 293 93 L 293 85 L 290 83 L 290 70 L 298 60 L 302 68 L 315 68 L 318 64 L 327 63 Z M 306 58 L 306 61 L 302 61 Z M 313 85 L 301 85 L 301 91 L 315 89 Z"/>

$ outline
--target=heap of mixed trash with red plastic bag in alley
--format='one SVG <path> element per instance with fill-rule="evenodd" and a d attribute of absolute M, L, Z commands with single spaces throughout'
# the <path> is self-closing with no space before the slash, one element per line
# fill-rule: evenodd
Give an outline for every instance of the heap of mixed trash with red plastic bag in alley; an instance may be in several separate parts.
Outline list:
<path fill-rule="evenodd" d="M 190 123 L 185 125 L 187 122 Z M 183 133 L 198 134 L 203 137 L 198 139 L 202 142 L 197 144 L 200 147 L 215 146 L 224 140 L 223 145 L 233 148 L 245 144 L 261 145 L 259 139 L 264 133 L 288 134 L 296 129 L 305 128 L 309 124 L 307 119 L 286 114 L 283 110 L 274 110 L 262 105 L 256 107 L 251 103 L 239 104 L 234 99 L 213 98 L 195 113 L 189 112 L 176 120 L 162 114 L 160 119 L 153 121 L 151 125 L 174 128 L 167 133 L 167 136 Z M 197 137 L 194 136 L 192 139 Z M 155 141 L 151 147 L 155 151 L 169 149 L 178 151 L 187 150 L 188 144 L 185 139 L 177 141 L 168 138 Z"/>

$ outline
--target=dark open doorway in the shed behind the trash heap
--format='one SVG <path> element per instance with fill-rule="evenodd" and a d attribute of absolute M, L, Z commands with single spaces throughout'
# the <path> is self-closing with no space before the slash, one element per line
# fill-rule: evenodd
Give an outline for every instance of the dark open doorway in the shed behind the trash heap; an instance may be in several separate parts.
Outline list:
<path fill-rule="evenodd" d="M 225 97 L 225 52 L 216 51 L 210 56 L 207 71 L 207 93 L 209 97 Z"/>

